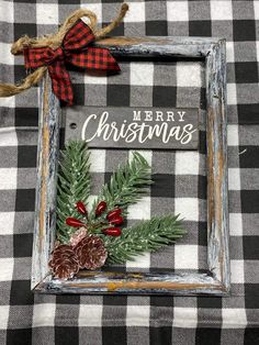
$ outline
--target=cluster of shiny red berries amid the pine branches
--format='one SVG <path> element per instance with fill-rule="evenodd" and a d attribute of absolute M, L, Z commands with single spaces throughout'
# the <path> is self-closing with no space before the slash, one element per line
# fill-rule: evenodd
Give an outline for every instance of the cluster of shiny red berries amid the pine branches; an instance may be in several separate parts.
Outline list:
<path fill-rule="evenodd" d="M 106 202 L 105 201 L 100 201 L 99 204 L 97 205 L 95 209 L 95 218 L 99 218 L 100 215 L 103 214 L 104 211 L 106 211 Z M 86 209 L 86 205 L 83 204 L 82 201 L 78 201 L 76 204 L 77 211 L 78 213 L 85 215 L 86 220 L 88 221 L 88 211 Z M 123 216 L 122 216 L 122 209 L 116 208 L 112 211 L 109 211 L 106 214 L 106 222 L 105 223 L 99 223 L 99 224 L 94 224 L 94 225 L 104 225 L 104 224 L 110 224 L 110 225 L 121 225 L 123 223 Z M 81 222 L 80 220 L 74 218 L 74 216 L 68 216 L 66 219 L 66 224 L 69 226 L 74 226 L 74 227 L 80 227 L 80 226 L 85 226 L 88 227 L 88 224 Z M 110 227 L 105 227 L 102 229 L 102 233 L 104 235 L 109 235 L 109 236 L 120 236 L 122 234 L 122 231 L 120 227 L 117 226 L 110 226 Z"/>

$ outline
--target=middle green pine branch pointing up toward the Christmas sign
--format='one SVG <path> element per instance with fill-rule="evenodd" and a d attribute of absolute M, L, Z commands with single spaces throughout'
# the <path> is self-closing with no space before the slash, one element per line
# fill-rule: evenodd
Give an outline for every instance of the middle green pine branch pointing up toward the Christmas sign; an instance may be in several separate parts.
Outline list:
<path fill-rule="evenodd" d="M 108 210 L 120 207 L 125 215 L 126 208 L 137 202 L 153 182 L 150 174 L 151 168 L 147 160 L 139 153 L 134 152 L 133 159 L 121 164 L 113 172 L 110 182 L 103 186 L 93 202 L 90 218 L 94 219 L 94 210 L 101 200 L 105 200 Z"/>

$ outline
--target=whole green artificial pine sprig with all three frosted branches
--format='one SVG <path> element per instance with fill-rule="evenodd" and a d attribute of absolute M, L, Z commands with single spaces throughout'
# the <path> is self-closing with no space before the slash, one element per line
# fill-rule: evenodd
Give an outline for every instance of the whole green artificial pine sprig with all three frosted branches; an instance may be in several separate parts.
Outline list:
<path fill-rule="evenodd" d="M 57 240 L 69 242 L 76 227 L 66 225 L 67 218 L 82 220 L 76 203 L 81 201 L 87 207 L 90 196 L 90 153 L 82 141 L 68 142 L 61 152 L 58 174 L 57 193 Z M 179 215 L 154 216 L 148 221 L 140 221 L 136 225 L 122 229 L 119 237 L 102 234 L 106 227 L 106 213 L 114 208 L 122 209 L 122 215 L 127 214 L 127 207 L 137 202 L 153 182 L 150 166 L 137 152 L 132 160 L 121 164 L 113 172 L 109 183 L 105 183 L 94 200 L 89 213 L 88 231 L 97 233 L 104 241 L 109 253 L 109 264 L 123 264 L 133 260 L 135 256 L 145 252 L 155 252 L 162 246 L 174 243 L 185 234 Z M 100 201 L 105 201 L 106 210 L 95 218 L 95 209 Z M 103 222 L 102 222 L 103 220 Z M 86 222 L 86 220 L 83 220 Z"/>

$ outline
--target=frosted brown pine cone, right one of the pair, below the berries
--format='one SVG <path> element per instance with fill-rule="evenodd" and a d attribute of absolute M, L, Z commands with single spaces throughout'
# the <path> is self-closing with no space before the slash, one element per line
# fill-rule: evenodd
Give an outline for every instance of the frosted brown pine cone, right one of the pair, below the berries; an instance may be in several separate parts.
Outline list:
<path fill-rule="evenodd" d="M 103 241 L 95 236 L 89 235 L 82 238 L 74 251 L 78 257 L 80 268 L 97 269 L 104 265 L 108 253 Z"/>

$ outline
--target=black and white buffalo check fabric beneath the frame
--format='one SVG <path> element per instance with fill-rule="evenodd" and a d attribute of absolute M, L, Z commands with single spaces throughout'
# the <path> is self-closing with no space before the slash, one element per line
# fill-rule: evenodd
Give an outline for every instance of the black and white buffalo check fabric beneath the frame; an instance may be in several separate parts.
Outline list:
<path fill-rule="evenodd" d="M 259 343 L 259 1 L 128 1 L 114 35 L 227 38 L 228 172 L 232 296 L 43 296 L 30 291 L 38 89 L 0 99 L 0 344 Z M 11 43 L 55 32 L 74 10 L 93 10 L 106 24 L 121 1 L 0 1 L 0 80 L 19 81 L 23 58 Z M 143 151 L 156 183 L 128 223 L 180 212 L 188 236 L 122 270 L 206 269 L 204 66 L 199 62 L 123 62 L 117 77 L 71 73 L 77 104 L 198 107 L 198 152 Z M 108 181 L 126 151 L 92 151 L 94 187 Z"/>

